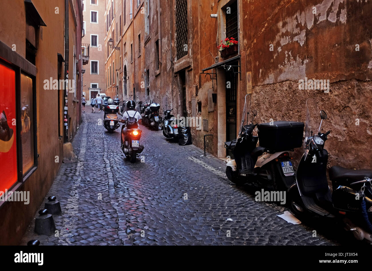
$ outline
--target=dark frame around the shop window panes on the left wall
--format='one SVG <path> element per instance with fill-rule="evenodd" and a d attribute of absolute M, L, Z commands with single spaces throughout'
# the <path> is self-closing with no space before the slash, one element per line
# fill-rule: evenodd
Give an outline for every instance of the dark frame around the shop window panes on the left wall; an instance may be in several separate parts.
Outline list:
<path fill-rule="evenodd" d="M 16 158 L 17 158 L 17 181 L 8 188 L 8 191 L 16 191 L 38 169 L 38 137 L 37 137 L 37 100 L 36 100 L 36 66 L 13 51 L 12 48 L 0 41 L 0 64 L 15 71 L 15 96 L 16 96 L 16 123 L 21 121 L 21 75 L 24 74 L 32 79 L 32 111 L 33 111 L 33 165 L 23 172 L 22 156 L 22 125 L 16 125 Z M 1 201 L 0 207 L 7 201 Z"/>

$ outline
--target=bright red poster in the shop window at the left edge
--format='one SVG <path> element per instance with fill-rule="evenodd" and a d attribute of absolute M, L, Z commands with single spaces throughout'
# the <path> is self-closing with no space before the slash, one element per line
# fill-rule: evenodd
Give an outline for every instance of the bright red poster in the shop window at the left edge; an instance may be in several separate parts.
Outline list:
<path fill-rule="evenodd" d="M 17 182 L 16 75 L 0 64 L 0 195 Z"/>

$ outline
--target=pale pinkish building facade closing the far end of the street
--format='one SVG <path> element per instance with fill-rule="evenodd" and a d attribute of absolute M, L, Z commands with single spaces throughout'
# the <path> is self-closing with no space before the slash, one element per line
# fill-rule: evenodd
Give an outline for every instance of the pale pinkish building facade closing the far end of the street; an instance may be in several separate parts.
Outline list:
<path fill-rule="evenodd" d="M 83 0 L 83 50 L 89 49 L 85 64 L 83 94 L 87 104 L 98 93 L 105 93 L 105 0 Z"/>

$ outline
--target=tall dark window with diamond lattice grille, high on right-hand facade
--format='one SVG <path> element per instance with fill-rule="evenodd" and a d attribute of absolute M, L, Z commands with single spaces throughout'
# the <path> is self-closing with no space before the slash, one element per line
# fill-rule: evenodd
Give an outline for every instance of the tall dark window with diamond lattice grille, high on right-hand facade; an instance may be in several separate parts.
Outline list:
<path fill-rule="evenodd" d="M 176 0 L 177 59 L 187 55 L 187 0 Z"/>

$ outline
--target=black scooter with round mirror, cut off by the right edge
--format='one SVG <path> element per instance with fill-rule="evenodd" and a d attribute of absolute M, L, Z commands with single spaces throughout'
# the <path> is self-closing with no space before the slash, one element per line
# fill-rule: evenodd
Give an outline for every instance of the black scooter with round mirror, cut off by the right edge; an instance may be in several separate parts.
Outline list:
<path fill-rule="evenodd" d="M 312 135 L 313 131 L 309 130 L 314 125 L 310 124 L 309 107 L 312 106 L 307 101 L 305 152 L 296 172 L 296 185 L 290 190 L 292 211 L 300 216 L 342 219 L 345 229 L 352 231 L 356 239 L 372 242 L 372 170 L 331 167 L 331 194 L 326 173 L 328 152 L 324 149 L 330 131 L 320 131 L 327 114 L 323 110 L 320 112 L 318 133 Z"/>

